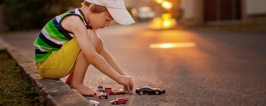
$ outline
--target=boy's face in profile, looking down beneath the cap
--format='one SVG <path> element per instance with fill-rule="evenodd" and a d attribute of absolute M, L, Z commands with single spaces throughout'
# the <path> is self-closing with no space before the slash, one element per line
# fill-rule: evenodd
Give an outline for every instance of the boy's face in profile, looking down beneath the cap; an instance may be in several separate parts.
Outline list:
<path fill-rule="evenodd" d="M 109 12 L 102 12 L 100 14 L 90 14 L 89 22 L 93 29 L 109 27 L 110 23 L 114 21 Z"/>

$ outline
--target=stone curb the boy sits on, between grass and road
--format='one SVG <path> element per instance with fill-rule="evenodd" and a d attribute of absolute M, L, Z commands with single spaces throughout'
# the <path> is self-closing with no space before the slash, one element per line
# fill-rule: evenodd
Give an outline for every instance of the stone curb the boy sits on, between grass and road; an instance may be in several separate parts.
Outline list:
<path fill-rule="evenodd" d="M 17 60 L 18 65 L 23 69 L 23 77 L 34 85 L 39 96 L 46 99 L 47 106 L 90 105 L 89 100 L 60 79 L 48 80 L 40 77 L 33 60 L 19 49 L 5 43 L 0 37 L 0 51 L 2 50 L 6 50 L 13 59 Z"/>

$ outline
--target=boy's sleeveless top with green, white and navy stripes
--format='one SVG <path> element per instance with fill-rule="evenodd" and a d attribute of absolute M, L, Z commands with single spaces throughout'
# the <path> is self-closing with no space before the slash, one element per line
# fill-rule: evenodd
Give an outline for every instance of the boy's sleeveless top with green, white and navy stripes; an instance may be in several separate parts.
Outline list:
<path fill-rule="evenodd" d="M 33 44 L 35 47 L 35 63 L 46 61 L 52 51 L 61 49 L 64 44 L 75 37 L 74 33 L 67 31 L 61 25 L 62 19 L 68 15 L 79 16 L 87 29 L 92 29 L 88 25 L 81 9 L 75 9 L 74 11 L 68 11 L 65 14 L 56 16 L 44 26 Z"/>

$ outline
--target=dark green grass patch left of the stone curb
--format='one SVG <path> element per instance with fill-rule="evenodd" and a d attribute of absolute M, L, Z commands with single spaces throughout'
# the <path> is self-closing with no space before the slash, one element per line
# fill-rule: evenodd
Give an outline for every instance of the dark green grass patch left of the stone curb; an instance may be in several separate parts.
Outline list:
<path fill-rule="evenodd" d="M 0 52 L 0 106 L 46 105 L 45 99 L 38 97 L 33 85 L 22 79 L 22 69 L 16 64 L 7 52 Z"/>

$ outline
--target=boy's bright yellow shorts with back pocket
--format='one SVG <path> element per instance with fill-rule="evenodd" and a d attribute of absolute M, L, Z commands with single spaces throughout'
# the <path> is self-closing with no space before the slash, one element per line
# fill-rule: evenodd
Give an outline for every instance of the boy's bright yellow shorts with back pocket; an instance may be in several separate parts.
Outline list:
<path fill-rule="evenodd" d="M 44 62 L 37 63 L 36 67 L 41 77 L 45 79 L 60 79 L 71 73 L 80 52 L 76 37 L 64 44 Z"/>

